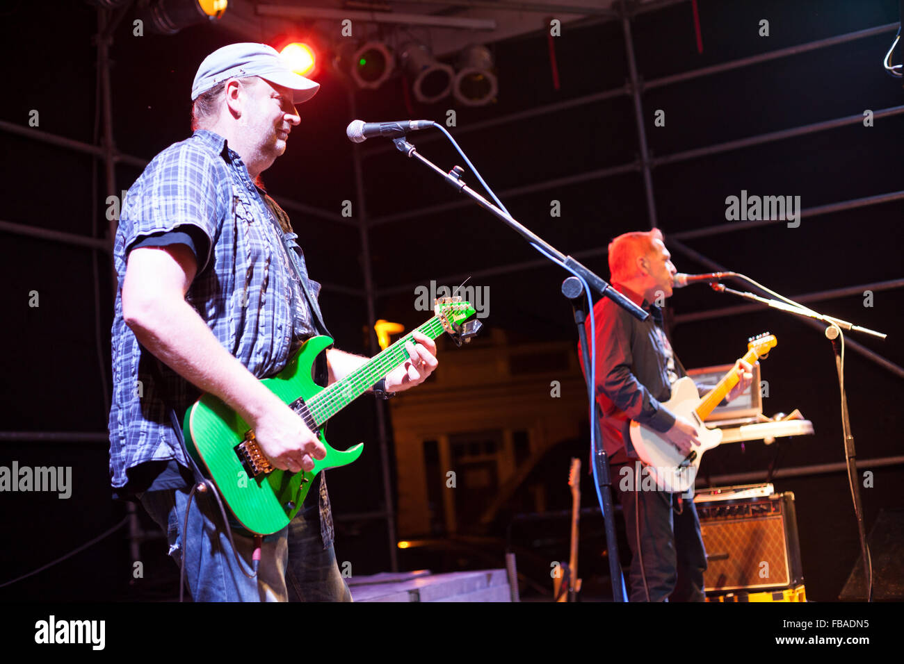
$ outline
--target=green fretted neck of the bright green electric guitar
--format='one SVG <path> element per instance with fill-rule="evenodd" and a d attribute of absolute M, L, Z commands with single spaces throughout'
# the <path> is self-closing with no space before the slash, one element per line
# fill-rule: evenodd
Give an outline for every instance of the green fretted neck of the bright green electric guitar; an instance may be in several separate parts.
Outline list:
<path fill-rule="evenodd" d="M 436 339 L 443 333 L 443 323 L 437 316 L 434 316 L 417 328 L 417 332 L 423 333 L 430 339 Z M 374 383 L 385 378 L 392 369 L 408 360 L 408 351 L 405 350 L 406 341 L 417 343 L 413 340 L 412 333 L 409 332 L 385 351 L 374 355 L 371 360 L 355 369 L 344 379 L 337 380 L 309 399 L 306 406 L 311 416 L 314 417 L 315 424 L 323 425 L 326 420 L 372 388 Z"/>

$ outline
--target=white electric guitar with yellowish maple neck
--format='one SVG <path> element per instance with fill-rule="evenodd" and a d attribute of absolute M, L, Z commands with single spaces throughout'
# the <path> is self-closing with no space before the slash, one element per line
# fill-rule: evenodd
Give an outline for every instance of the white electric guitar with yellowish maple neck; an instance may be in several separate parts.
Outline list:
<path fill-rule="evenodd" d="M 760 358 L 766 358 L 777 342 L 768 332 L 750 339 L 748 351 L 742 360 L 753 364 Z M 696 426 L 697 437 L 701 440 L 700 445 L 692 445 L 691 454 L 686 456 L 663 434 L 636 422 L 631 423 L 631 443 L 640 460 L 645 463 L 645 472 L 654 477 L 656 486 L 661 491 L 681 492 L 693 486 L 703 453 L 722 442 L 721 430 L 707 428 L 703 420 L 713 408 L 719 406 L 738 381 L 738 374 L 732 369 L 702 398 L 691 378 L 685 376 L 675 381 L 672 398 L 663 406 L 675 416 L 683 416 Z M 758 389 L 758 386 L 754 388 Z"/>

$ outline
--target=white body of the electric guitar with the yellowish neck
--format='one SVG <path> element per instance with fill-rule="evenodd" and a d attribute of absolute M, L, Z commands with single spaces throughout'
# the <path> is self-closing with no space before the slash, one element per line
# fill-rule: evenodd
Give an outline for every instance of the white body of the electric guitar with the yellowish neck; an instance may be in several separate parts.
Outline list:
<path fill-rule="evenodd" d="M 660 491 L 675 493 L 687 491 L 697 479 L 697 470 L 703 453 L 722 442 L 720 429 L 708 429 L 696 413 L 702 399 L 693 380 L 685 376 L 672 386 L 672 398 L 663 406 L 675 416 L 683 416 L 697 427 L 697 437 L 701 444 L 692 445 L 692 459 L 678 451 L 678 448 L 664 435 L 636 422 L 631 423 L 631 443 L 640 460 L 645 463 L 644 472 L 655 478 Z M 696 453 L 696 454 L 693 454 Z M 636 478 L 637 486 L 640 479 Z"/>

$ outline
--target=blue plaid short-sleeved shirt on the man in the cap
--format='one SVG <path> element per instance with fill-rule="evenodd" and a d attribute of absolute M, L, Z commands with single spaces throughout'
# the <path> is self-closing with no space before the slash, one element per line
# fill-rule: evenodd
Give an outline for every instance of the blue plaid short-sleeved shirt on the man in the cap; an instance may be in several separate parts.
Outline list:
<path fill-rule="evenodd" d="M 110 482 L 119 494 L 127 493 L 128 472 L 141 463 L 189 465 L 155 385 L 149 364 L 154 358 L 142 351 L 123 321 L 128 250 L 161 231 L 200 230 L 209 239 L 207 255 L 197 257 L 198 270 L 185 300 L 227 351 L 252 374 L 266 378 L 283 369 L 290 352 L 317 333 L 315 317 L 322 323 L 320 285 L 307 276 L 297 235 L 280 228 L 280 221 L 288 225 L 285 212 L 271 204 L 273 209 L 239 154 L 222 136 L 206 130 L 157 154 L 128 190 L 114 248 L 118 289 L 109 416 Z M 183 416 L 200 392 L 172 369 L 160 367 L 165 395 Z M 323 503 L 325 482 L 321 498 Z"/>

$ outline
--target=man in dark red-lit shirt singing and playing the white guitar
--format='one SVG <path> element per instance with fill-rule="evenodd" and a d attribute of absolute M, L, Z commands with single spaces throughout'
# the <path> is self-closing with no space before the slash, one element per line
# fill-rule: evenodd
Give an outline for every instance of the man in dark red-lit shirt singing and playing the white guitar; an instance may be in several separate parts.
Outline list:
<path fill-rule="evenodd" d="M 593 308 L 596 330 L 590 329 L 589 317 L 586 323 L 587 333 L 597 338 L 595 381 L 602 443 L 632 554 L 630 599 L 702 602 L 706 552 L 693 500 L 649 490 L 636 476 L 637 455 L 628 435 L 635 420 L 663 433 L 684 454 L 699 443 L 692 423 L 662 406 L 684 373 L 665 335 L 661 309 L 665 298 L 672 296 L 677 271 L 659 229 L 618 236 L 608 246 L 608 262 L 612 285 L 650 313 L 646 321 L 637 321 L 604 297 Z M 740 380 L 728 400 L 749 388 L 751 369 L 738 361 Z"/>

